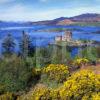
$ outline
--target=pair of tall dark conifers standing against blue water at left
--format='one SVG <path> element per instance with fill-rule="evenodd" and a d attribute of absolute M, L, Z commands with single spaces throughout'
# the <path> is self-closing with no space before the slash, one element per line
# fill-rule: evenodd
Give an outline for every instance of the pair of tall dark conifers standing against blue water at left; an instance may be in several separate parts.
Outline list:
<path fill-rule="evenodd" d="M 15 53 L 16 43 L 13 36 L 9 33 L 2 41 L 2 54 L 3 55 L 12 55 Z M 34 52 L 34 46 L 32 44 L 32 40 L 30 36 L 23 31 L 22 38 L 19 41 L 19 56 L 26 58 L 27 56 L 32 56 Z"/>

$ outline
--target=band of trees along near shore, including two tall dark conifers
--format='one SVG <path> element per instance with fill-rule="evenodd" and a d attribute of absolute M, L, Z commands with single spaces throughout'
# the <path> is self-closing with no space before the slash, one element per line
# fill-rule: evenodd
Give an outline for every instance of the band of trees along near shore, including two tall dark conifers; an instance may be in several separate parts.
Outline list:
<path fill-rule="evenodd" d="M 36 41 L 36 40 L 35 40 Z M 96 61 L 100 57 L 100 47 L 85 47 L 78 50 L 78 54 L 72 57 L 72 49 L 66 46 L 48 45 L 46 47 L 37 47 L 33 45 L 33 39 L 25 32 L 19 41 L 19 51 L 16 53 L 16 43 L 11 34 L 8 34 L 2 41 L 3 56 L 10 57 L 13 54 L 27 59 L 31 66 L 41 67 L 48 64 L 71 65 L 76 57 L 87 58 L 90 61 Z"/>

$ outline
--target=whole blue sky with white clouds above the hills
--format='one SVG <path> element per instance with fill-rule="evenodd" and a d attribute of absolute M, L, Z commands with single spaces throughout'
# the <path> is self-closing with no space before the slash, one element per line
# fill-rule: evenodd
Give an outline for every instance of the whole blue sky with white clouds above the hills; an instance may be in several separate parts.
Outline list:
<path fill-rule="evenodd" d="M 2 21 L 42 21 L 99 13 L 100 0 L 0 0 Z"/>

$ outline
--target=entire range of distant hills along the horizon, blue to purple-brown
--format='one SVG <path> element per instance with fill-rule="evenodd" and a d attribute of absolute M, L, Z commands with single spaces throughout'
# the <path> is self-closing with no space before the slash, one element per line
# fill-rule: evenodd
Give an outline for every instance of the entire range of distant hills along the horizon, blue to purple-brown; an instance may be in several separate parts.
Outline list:
<path fill-rule="evenodd" d="M 6 26 L 29 26 L 29 25 L 69 25 L 75 23 L 100 22 L 100 14 L 86 13 L 74 17 L 60 17 L 54 20 L 37 21 L 37 22 L 4 22 L 0 21 L 0 27 Z"/>

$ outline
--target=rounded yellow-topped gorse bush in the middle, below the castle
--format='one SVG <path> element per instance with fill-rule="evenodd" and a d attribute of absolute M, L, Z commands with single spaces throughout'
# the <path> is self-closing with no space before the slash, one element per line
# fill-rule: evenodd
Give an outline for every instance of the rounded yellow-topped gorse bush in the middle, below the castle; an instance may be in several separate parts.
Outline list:
<path fill-rule="evenodd" d="M 69 76 L 69 71 L 68 67 L 65 65 L 50 64 L 49 66 L 43 68 L 42 74 L 44 75 L 45 79 L 62 83 Z"/>

